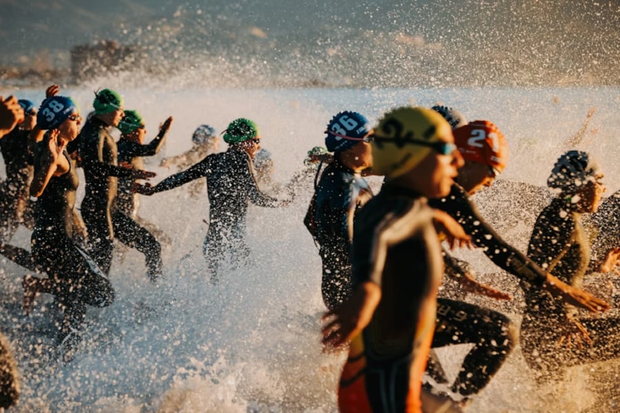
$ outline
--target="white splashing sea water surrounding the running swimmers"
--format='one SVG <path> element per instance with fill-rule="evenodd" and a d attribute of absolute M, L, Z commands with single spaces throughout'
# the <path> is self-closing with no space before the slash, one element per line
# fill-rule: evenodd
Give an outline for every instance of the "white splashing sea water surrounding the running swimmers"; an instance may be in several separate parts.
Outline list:
<path fill-rule="evenodd" d="M 608 194 L 619 189 L 618 88 L 247 90 L 119 82 L 109 79 L 61 94 L 72 96 L 85 115 L 95 89 L 118 89 L 125 108 L 143 114 L 147 140 L 165 118 L 174 116 L 161 154 L 145 162 L 146 169 L 158 174 L 154 183 L 176 172 L 175 167 L 161 167 L 161 158 L 189 149 L 192 131 L 202 123 L 222 131 L 234 118 L 256 121 L 261 145 L 275 163 L 273 181 L 285 184 L 303 168 L 306 152 L 323 145 L 327 122 L 341 110 L 361 112 L 374 123 L 393 107 L 442 103 L 469 120 L 498 125 L 510 144 L 502 178 L 537 185 L 545 184 L 553 162 L 569 149 L 566 140 L 595 108 L 578 148 L 599 159 Z M 14 94 L 37 103 L 43 98 L 41 90 Z M 371 184 L 377 189 L 380 180 L 371 178 Z M 1 260 L 1 325 L 21 377 L 21 399 L 12 411 L 335 412 L 344 354 L 321 351 L 320 258 L 302 224 L 311 190 L 311 183 L 300 188 L 285 208 L 249 209 L 251 263 L 225 267 L 217 285 L 205 276 L 202 254 L 209 216 L 206 193 L 192 196 L 180 187 L 143 196 L 139 215 L 171 239 L 163 246 L 163 278 L 151 284 L 143 256 L 117 248 L 110 272 L 116 301 L 108 308 L 88 309 L 83 346 L 68 364 L 54 354 L 52 320 L 59 315 L 51 298 L 39 297 L 31 315 L 23 315 L 21 277 L 28 272 Z M 83 186 L 78 195 L 83 196 Z M 497 220 L 510 211 L 493 213 Z M 12 243 L 28 248 L 29 239 L 30 233 L 20 229 Z M 459 254 L 481 273 L 497 272 L 480 251 Z M 502 288 L 497 280 L 493 285 Z M 487 299 L 481 304 L 494 305 Z M 518 321 L 519 304 L 507 312 Z M 467 350 L 440 349 L 451 377 Z M 619 400 L 605 390 L 616 386 L 614 374 L 605 366 L 578 367 L 565 383 L 541 387 L 531 379 L 517 347 L 468 411 L 614 411 Z"/>

